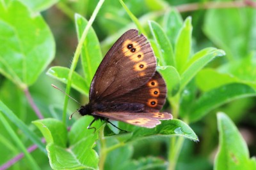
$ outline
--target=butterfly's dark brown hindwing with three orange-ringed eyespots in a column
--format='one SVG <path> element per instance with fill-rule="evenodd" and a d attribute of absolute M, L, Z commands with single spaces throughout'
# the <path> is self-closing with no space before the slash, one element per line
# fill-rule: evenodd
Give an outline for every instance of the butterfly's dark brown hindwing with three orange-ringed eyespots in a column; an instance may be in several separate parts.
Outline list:
<path fill-rule="evenodd" d="M 144 112 L 158 112 L 166 101 L 166 84 L 156 71 L 145 85 L 113 99 L 113 101 L 114 103 L 143 104 Z"/>

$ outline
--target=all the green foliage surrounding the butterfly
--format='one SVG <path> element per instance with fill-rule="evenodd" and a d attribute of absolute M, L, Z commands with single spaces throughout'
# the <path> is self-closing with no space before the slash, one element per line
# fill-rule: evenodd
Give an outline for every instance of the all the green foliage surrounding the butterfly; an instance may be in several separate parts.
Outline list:
<path fill-rule="evenodd" d="M 0 169 L 256 169 L 256 10 L 204 1 L 188 13 L 189 2 L 1 1 Z M 131 28 L 152 45 L 174 119 L 154 129 L 113 122 L 128 132 L 99 120 L 86 129 L 90 116 L 67 121 L 79 106 L 51 84 L 88 102 L 104 54 Z"/>

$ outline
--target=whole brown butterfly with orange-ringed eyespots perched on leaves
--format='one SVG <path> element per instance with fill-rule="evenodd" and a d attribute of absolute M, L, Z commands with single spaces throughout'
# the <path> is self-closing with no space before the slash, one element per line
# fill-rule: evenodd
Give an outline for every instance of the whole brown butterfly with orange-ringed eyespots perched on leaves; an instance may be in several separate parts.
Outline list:
<path fill-rule="evenodd" d="M 125 32 L 100 63 L 90 86 L 89 103 L 77 110 L 82 116 L 94 117 L 88 129 L 99 119 L 147 128 L 172 119 L 170 113 L 159 112 L 166 101 L 166 84 L 156 65 L 147 38 L 136 29 Z"/>

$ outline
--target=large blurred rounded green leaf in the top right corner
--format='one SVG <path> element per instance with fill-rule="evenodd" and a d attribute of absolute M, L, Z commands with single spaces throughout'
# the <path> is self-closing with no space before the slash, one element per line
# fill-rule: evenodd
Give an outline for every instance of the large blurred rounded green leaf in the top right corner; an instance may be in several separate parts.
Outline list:
<path fill-rule="evenodd" d="M 230 61 L 255 51 L 255 26 L 256 11 L 252 8 L 212 9 L 205 13 L 205 34 L 227 52 Z"/>

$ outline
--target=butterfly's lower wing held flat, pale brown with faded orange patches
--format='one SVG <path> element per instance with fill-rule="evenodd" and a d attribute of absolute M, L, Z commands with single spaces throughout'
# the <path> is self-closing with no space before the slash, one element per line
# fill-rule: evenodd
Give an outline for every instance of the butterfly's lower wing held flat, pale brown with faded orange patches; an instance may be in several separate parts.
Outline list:
<path fill-rule="evenodd" d="M 126 112 L 94 112 L 92 115 L 106 117 L 111 120 L 118 120 L 127 124 L 137 125 L 140 127 L 153 128 L 161 124 L 159 120 L 172 119 L 172 115 L 163 113 L 126 113 Z"/>

